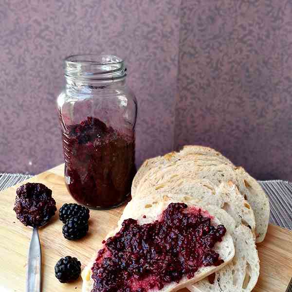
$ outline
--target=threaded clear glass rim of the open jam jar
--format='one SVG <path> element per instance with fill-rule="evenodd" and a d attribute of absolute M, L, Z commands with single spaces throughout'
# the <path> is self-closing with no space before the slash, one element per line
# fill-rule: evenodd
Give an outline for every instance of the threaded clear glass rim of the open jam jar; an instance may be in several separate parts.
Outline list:
<path fill-rule="evenodd" d="M 99 80 L 120 79 L 126 76 L 124 59 L 116 55 L 70 55 L 64 62 L 66 77 Z"/>

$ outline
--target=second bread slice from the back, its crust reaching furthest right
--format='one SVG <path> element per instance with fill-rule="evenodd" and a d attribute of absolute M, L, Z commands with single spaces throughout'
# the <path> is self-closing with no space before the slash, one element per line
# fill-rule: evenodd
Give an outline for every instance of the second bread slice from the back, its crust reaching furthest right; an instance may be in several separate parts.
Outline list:
<path fill-rule="evenodd" d="M 219 186 L 222 182 L 231 181 L 239 189 L 240 194 L 250 203 L 256 219 L 256 242 L 263 241 L 269 224 L 269 200 L 261 186 L 242 167 L 230 164 L 210 164 L 206 161 L 202 166 L 195 161 L 180 161 L 164 167 L 148 170 L 136 188 L 136 194 L 153 187 L 159 187 L 175 178 L 198 178 L 209 180 Z"/>

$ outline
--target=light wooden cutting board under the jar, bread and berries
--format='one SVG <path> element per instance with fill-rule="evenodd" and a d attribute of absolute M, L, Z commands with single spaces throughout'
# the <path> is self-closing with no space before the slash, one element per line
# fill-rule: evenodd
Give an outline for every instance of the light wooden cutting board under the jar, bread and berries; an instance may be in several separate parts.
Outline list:
<path fill-rule="evenodd" d="M 57 209 L 65 202 L 73 202 L 64 184 L 63 169 L 61 164 L 28 180 L 51 188 Z M 0 192 L 0 292 L 25 291 L 32 230 L 16 219 L 13 211 L 16 189 L 17 186 L 13 186 Z M 78 241 L 63 237 L 62 222 L 57 214 L 50 224 L 40 229 L 43 292 L 81 292 L 81 279 L 71 284 L 59 283 L 54 273 L 56 261 L 64 256 L 75 256 L 83 268 L 100 247 L 103 237 L 115 227 L 122 211 L 123 206 L 107 211 L 91 210 L 89 234 Z M 292 232 L 270 225 L 265 241 L 258 244 L 258 253 L 261 271 L 254 292 L 285 292 L 292 277 Z"/>

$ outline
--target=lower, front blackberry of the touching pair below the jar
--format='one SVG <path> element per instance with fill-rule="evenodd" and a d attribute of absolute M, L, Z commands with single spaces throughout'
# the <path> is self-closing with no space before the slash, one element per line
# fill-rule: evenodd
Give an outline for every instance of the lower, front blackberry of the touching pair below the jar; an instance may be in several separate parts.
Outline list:
<path fill-rule="evenodd" d="M 63 235 L 69 240 L 76 240 L 84 237 L 88 232 L 88 220 L 72 217 L 63 226 Z"/>

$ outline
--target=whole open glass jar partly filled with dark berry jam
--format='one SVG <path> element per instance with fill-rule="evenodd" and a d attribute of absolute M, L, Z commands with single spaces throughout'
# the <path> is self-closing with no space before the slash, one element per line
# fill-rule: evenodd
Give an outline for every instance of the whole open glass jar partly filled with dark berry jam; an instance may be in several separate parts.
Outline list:
<path fill-rule="evenodd" d="M 137 102 L 126 70 L 114 55 L 65 59 L 66 87 L 57 98 L 65 183 L 77 202 L 94 209 L 126 201 L 136 171 Z"/>

